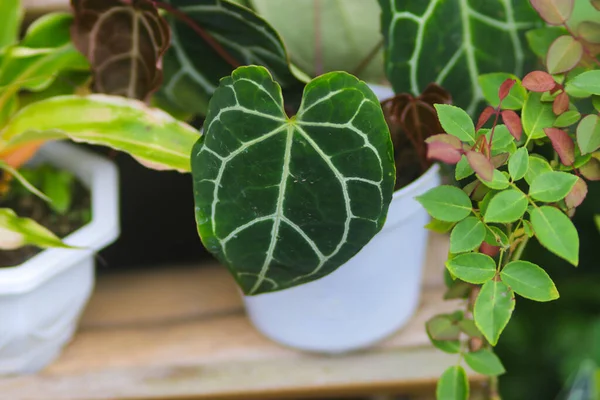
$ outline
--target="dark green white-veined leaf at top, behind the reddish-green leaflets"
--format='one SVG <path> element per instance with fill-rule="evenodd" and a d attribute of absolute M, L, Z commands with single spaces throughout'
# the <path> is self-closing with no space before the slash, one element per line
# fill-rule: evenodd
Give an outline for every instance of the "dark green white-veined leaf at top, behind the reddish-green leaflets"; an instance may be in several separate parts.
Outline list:
<path fill-rule="evenodd" d="M 507 71 L 520 76 L 531 57 L 522 32 L 535 27 L 539 18 L 527 1 L 379 0 L 379 4 L 386 72 L 396 92 L 409 88 L 418 95 L 436 82 L 452 93 L 456 105 L 473 114 L 483 100 L 479 75 Z M 493 46 L 486 39 L 491 37 Z"/>

